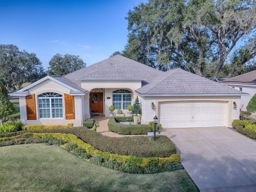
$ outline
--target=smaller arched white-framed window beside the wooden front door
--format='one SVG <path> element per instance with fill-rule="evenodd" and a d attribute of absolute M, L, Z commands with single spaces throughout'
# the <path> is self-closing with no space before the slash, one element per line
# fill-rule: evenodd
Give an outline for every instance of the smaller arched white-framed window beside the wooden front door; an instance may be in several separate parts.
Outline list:
<path fill-rule="evenodd" d="M 127 109 L 131 105 L 131 91 L 119 89 L 113 91 L 113 106 L 115 109 Z"/>

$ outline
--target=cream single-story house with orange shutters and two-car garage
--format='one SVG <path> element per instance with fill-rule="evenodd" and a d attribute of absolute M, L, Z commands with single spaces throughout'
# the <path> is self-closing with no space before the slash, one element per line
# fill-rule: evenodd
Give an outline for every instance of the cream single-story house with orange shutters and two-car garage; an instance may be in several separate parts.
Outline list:
<path fill-rule="evenodd" d="M 230 126 L 239 119 L 243 92 L 182 69 L 163 72 L 120 55 L 63 76 L 47 76 L 12 94 L 25 125 L 74 123 L 91 111 L 110 116 L 114 105 L 127 114 L 139 96 L 141 123 L 155 115 L 164 128 Z"/>

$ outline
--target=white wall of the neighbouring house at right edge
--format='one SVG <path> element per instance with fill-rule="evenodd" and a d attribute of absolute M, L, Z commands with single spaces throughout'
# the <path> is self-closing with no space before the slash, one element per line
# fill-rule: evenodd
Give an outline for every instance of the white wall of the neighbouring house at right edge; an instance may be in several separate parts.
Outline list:
<path fill-rule="evenodd" d="M 231 86 L 231 85 L 230 85 Z M 241 96 L 241 107 L 242 111 L 246 111 L 246 107 L 249 103 L 249 100 L 256 94 L 256 86 L 232 86 L 236 90 L 242 88 L 242 92 L 248 93 L 249 95 Z"/>

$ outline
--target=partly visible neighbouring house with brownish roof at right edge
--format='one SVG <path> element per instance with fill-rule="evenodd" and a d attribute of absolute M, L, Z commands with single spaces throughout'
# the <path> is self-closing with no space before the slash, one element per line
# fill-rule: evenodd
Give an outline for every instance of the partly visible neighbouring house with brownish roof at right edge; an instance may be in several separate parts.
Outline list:
<path fill-rule="evenodd" d="M 249 100 L 251 100 L 251 98 L 256 94 L 256 70 L 244 73 L 242 75 L 238 75 L 236 77 L 225 79 L 223 81 L 220 81 L 219 83 L 231 86 L 236 90 L 247 93 L 247 95 L 241 96 L 240 106 L 240 109 L 242 111 L 246 111 Z"/>

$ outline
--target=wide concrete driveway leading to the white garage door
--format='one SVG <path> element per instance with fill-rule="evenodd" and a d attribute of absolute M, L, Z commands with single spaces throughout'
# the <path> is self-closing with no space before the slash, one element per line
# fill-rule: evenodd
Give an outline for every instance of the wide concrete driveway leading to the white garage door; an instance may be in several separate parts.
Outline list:
<path fill-rule="evenodd" d="M 200 191 L 256 191 L 256 142 L 226 127 L 169 128 Z"/>

